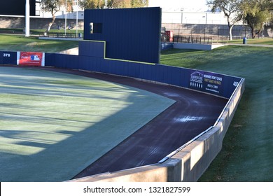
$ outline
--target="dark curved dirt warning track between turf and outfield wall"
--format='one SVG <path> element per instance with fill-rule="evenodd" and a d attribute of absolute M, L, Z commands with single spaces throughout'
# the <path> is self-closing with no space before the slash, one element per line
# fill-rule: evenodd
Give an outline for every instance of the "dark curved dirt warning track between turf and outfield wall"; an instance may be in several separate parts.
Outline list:
<path fill-rule="evenodd" d="M 47 69 L 137 87 L 176 102 L 116 148 L 73 177 L 116 172 L 159 162 L 165 156 L 214 125 L 228 99 L 193 90 L 148 83 L 134 78 L 69 69 Z M 126 119 L 125 119 L 126 120 Z M 92 151 L 92 149 L 90 149 Z"/>

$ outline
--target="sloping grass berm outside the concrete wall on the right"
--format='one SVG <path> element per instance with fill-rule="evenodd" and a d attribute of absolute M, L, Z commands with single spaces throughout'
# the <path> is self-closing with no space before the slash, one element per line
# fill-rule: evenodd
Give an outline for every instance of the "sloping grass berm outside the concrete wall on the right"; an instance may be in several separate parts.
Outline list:
<path fill-rule="evenodd" d="M 273 48 L 169 50 L 161 63 L 246 78 L 223 149 L 200 181 L 273 181 Z"/>

